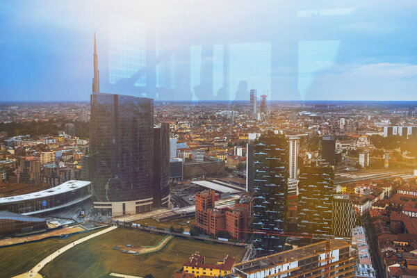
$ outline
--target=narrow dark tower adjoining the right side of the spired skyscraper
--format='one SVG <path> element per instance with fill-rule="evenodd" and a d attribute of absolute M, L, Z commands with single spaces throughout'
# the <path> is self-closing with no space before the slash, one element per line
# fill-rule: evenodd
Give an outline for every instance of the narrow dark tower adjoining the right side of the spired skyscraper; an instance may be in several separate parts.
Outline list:
<path fill-rule="evenodd" d="M 154 203 L 168 207 L 170 203 L 170 124 L 154 127 Z"/>

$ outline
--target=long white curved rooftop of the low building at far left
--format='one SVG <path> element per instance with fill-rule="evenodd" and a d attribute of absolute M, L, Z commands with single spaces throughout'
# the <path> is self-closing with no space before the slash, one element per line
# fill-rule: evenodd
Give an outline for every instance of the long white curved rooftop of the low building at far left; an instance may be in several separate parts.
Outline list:
<path fill-rule="evenodd" d="M 83 188 L 88 185 L 90 185 L 90 181 L 75 181 L 75 180 L 65 181 L 65 183 L 61 183 L 59 186 L 56 186 L 54 188 L 48 188 L 46 190 L 29 193 L 26 195 L 17 195 L 13 197 L 0 198 L 0 204 L 25 201 L 28 199 L 38 199 L 42 197 L 49 197 L 49 196 L 53 196 L 53 195 L 57 195 L 61 193 L 67 193 L 72 190 Z"/>

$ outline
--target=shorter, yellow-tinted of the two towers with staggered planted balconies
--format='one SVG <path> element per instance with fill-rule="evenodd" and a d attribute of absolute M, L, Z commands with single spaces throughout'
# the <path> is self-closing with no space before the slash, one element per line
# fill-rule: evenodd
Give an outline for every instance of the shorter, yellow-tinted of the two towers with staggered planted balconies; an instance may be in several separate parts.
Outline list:
<path fill-rule="evenodd" d="M 310 234 L 333 234 L 332 196 L 334 170 L 329 165 L 300 169 L 298 183 L 298 229 Z"/>

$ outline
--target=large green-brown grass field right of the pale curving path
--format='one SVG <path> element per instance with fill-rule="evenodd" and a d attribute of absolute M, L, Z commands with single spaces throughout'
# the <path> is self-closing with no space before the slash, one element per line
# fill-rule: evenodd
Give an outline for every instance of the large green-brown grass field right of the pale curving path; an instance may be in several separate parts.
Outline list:
<path fill-rule="evenodd" d="M 199 251 L 206 256 L 207 263 L 215 263 L 229 254 L 237 261 L 242 258 L 245 249 L 229 245 L 204 243 L 197 240 L 173 238 L 160 252 L 133 256 L 111 250 L 118 244 L 156 245 L 163 236 L 144 231 L 116 229 L 108 234 L 92 238 L 76 246 L 47 264 L 40 274 L 53 277 L 104 277 L 109 272 L 144 277 L 152 274 L 156 278 L 170 278 L 181 269 L 190 254 Z M 125 242 L 125 240 L 128 240 Z"/>

